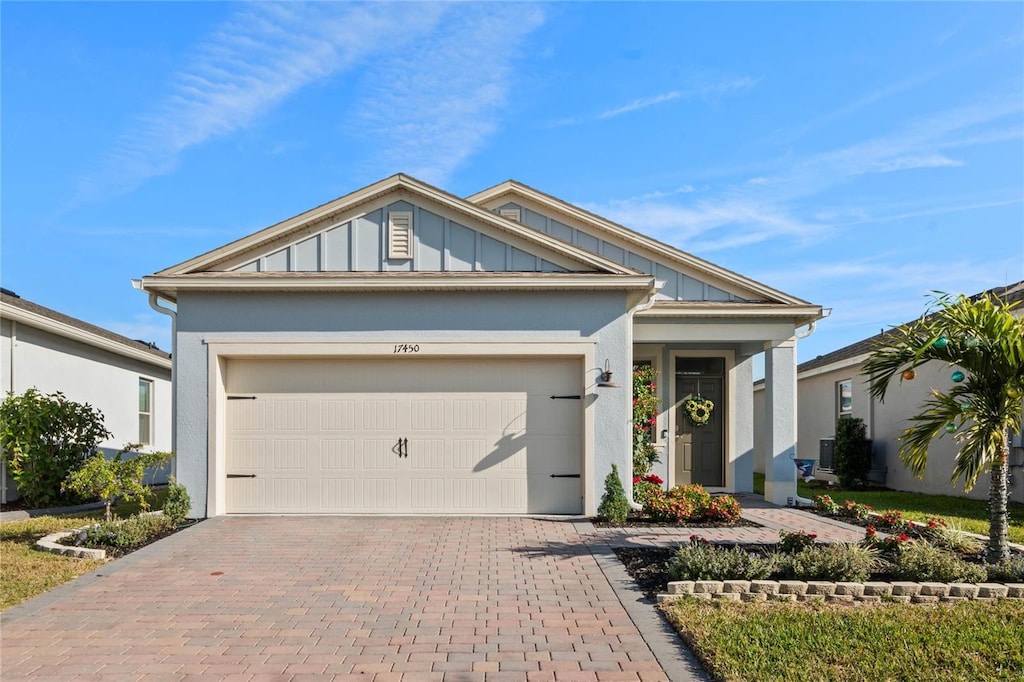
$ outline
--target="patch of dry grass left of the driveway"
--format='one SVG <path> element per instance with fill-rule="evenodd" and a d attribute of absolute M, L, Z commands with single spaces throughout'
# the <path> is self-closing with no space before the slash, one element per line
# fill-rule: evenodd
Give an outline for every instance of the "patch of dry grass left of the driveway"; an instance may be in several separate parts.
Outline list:
<path fill-rule="evenodd" d="M 166 493 L 158 491 L 150 505 L 160 509 Z M 137 503 L 122 503 L 115 508 L 118 516 L 138 512 Z M 41 552 L 36 541 L 58 530 L 70 530 L 103 517 L 103 510 L 69 516 L 39 516 L 0 523 L 0 610 L 52 590 L 101 565 L 102 561 L 78 559 Z"/>

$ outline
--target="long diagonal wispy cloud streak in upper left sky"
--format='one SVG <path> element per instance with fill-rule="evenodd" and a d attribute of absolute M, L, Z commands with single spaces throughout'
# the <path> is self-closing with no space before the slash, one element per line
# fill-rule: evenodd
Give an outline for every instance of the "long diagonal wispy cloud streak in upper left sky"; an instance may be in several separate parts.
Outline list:
<path fill-rule="evenodd" d="M 172 172 L 187 148 L 250 126 L 299 89 L 431 31 L 444 5 L 252 3 L 210 34 L 79 184 L 76 203 Z"/>

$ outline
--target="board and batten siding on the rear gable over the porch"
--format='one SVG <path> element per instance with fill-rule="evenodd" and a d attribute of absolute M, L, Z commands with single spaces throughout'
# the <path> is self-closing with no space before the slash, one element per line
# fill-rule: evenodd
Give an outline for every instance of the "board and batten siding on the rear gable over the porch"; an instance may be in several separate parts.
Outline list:
<path fill-rule="evenodd" d="M 665 282 L 665 287 L 658 292 L 657 298 L 660 300 L 675 301 L 742 301 L 744 299 L 723 291 L 718 287 L 701 282 L 688 274 L 684 274 L 662 263 L 656 263 L 650 258 L 625 249 L 598 237 L 590 235 L 582 229 L 572 227 L 554 218 L 534 211 L 519 204 L 508 202 L 498 207 L 495 213 L 515 219 L 534 229 L 550 235 L 567 244 L 577 246 L 585 251 L 603 256 L 608 260 L 613 260 L 628 267 L 646 272 L 655 279 Z"/>

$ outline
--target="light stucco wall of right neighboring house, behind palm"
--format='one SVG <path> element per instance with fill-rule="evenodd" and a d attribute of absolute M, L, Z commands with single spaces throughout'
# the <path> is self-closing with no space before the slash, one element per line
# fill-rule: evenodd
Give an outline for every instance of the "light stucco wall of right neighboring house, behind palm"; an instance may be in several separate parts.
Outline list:
<path fill-rule="evenodd" d="M 987 499 L 987 474 L 982 474 L 978 483 L 970 493 L 963 485 L 952 485 L 949 482 L 952 475 L 954 460 L 957 453 L 955 440 L 943 435 L 932 442 L 929 449 L 929 463 L 923 478 L 914 476 L 899 459 L 899 436 L 907 426 L 907 420 L 920 412 L 921 406 L 931 394 L 932 389 L 948 390 L 952 383 L 949 379 L 951 370 L 938 363 L 925 365 L 916 370 L 912 381 L 894 382 L 886 395 L 885 402 L 878 402 L 870 397 L 867 384 L 861 375 L 861 365 L 855 364 L 844 368 L 798 378 L 799 417 L 798 417 L 798 452 L 800 457 L 818 458 L 819 441 L 836 433 L 838 416 L 837 384 L 841 381 L 853 380 L 853 417 L 864 420 L 867 426 L 867 437 L 873 441 L 874 465 L 884 466 L 886 471 L 886 487 L 895 491 L 925 493 L 929 495 L 967 496 L 976 500 Z M 755 413 L 761 411 L 764 390 L 755 392 Z M 756 424 L 756 429 L 763 425 Z M 760 440 L 756 441 L 760 445 Z M 757 451 L 757 471 L 764 471 L 765 452 Z M 1022 451 L 1011 452 L 1011 500 L 1024 502 L 1024 457 Z M 827 474 L 816 476 L 823 479 L 835 479 Z"/>

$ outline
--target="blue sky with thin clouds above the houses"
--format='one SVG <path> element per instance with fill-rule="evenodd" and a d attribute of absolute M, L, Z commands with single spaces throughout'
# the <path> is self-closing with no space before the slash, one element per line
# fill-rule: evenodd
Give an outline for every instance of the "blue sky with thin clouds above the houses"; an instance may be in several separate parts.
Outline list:
<path fill-rule="evenodd" d="M 1024 280 L 1021 3 L 11 3 L 0 283 L 170 347 L 157 271 L 406 172 L 515 178 L 833 309 Z"/>

